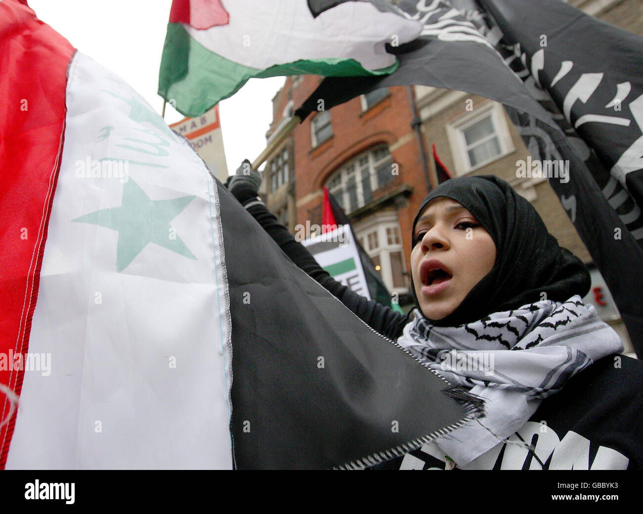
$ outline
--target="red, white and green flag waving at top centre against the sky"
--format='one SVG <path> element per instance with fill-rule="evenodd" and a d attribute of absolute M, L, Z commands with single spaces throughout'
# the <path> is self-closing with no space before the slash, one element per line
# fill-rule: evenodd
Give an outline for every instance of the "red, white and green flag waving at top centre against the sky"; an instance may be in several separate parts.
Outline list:
<path fill-rule="evenodd" d="M 252 77 L 391 73 L 421 30 L 385 0 L 174 0 L 158 93 L 199 116 Z"/>

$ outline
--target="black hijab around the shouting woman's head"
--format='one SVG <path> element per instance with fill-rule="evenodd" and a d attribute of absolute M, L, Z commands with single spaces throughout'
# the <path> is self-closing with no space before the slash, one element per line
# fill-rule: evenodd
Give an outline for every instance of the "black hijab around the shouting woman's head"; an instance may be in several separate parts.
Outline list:
<path fill-rule="evenodd" d="M 459 202 L 480 221 L 496 244 L 496 264 L 455 311 L 442 320 L 429 320 L 431 324 L 462 325 L 538 302 L 541 293 L 547 300 L 564 302 L 590 290 L 590 273 L 583 262 L 558 245 L 527 199 L 493 175 L 449 179 L 431 191 L 413 221 L 413 239 L 422 211 L 440 196 Z M 413 280 L 411 287 L 420 309 Z"/>

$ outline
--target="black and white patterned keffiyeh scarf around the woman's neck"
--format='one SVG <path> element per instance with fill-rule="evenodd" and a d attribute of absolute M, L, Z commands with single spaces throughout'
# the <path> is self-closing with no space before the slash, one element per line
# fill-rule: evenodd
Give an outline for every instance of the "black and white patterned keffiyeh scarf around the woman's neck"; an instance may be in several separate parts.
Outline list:
<path fill-rule="evenodd" d="M 519 430 L 577 372 L 622 351 L 617 333 L 579 295 L 452 327 L 432 325 L 415 309 L 397 342 L 485 399 L 485 418 L 435 441 L 460 466 Z"/>

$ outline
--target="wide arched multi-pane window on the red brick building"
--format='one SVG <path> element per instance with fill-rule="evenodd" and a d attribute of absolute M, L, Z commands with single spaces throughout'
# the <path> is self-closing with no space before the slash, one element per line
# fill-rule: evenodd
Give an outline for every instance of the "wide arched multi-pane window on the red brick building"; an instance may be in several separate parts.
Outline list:
<path fill-rule="evenodd" d="M 352 212 L 370 202 L 373 192 L 393 178 L 391 154 L 386 145 L 379 145 L 336 170 L 326 187 L 345 212 Z"/>

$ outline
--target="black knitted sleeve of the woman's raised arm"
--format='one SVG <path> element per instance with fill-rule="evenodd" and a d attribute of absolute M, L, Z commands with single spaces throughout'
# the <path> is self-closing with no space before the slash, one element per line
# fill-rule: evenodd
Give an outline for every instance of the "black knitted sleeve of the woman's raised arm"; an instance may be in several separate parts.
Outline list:
<path fill-rule="evenodd" d="M 262 203 L 256 203 L 248 207 L 248 212 L 298 268 L 308 273 L 330 291 L 332 295 L 337 297 L 368 326 L 393 340 L 402 334 L 404 325 L 408 322 L 408 315 L 403 315 L 373 300 L 368 300 L 347 286 L 343 286 L 337 280 L 332 279 L 331 275 L 321 268 L 305 246 L 294 239 L 288 229 L 280 225 L 276 217 Z"/>

